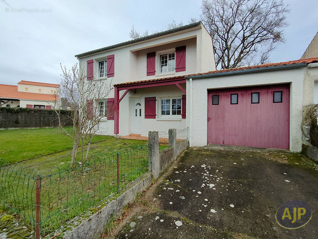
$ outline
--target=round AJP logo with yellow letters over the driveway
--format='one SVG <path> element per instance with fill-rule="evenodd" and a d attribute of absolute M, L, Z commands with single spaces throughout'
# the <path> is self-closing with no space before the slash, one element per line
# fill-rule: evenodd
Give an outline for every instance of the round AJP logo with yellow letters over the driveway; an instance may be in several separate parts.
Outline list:
<path fill-rule="evenodd" d="M 275 219 L 283 228 L 297 229 L 305 226 L 311 219 L 313 212 L 310 206 L 303 201 L 289 201 L 280 206 Z"/>

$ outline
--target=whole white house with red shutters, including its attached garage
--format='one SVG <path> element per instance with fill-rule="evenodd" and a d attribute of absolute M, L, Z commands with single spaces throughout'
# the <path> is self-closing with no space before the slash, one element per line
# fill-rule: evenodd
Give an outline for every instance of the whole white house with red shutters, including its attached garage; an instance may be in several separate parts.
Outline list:
<path fill-rule="evenodd" d="M 318 58 L 216 70 L 201 22 L 76 57 L 87 80 L 114 85 L 109 98 L 94 102 L 107 134 L 188 127 L 190 146 L 301 151 L 302 109 L 313 103 Z"/>

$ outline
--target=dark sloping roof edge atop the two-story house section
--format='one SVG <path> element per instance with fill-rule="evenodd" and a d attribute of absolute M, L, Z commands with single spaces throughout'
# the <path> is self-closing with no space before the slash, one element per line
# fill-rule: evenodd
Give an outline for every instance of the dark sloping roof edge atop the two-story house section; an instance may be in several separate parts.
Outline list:
<path fill-rule="evenodd" d="M 86 55 L 95 54 L 95 53 L 99 53 L 99 52 L 102 52 L 102 51 L 110 50 L 110 49 L 113 49 L 113 48 L 116 48 L 116 47 L 122 47 L 122 46 L 126 46 L 126 45 L 129 45 L 129 44 L 134 44 L 134 43 L 137 43 L 137 42 L 140 42 L 140 41 L 150 40 L 150 39 L 153 39 L 153 38 L 156 38 L 156 37 L 161 37 L 161 36 L 168 35 L 168 34 L 171 34 L 171 33 L 187 30 L 187 29 L 190 29 L 192 27 L 198 26 L 200 24 L 201 24 L 201 22 L 191 23 L 191 24 L 188 24 L 188 25 L 185 25 L 185 26 L 180 26 L 180 27 L 177 27 L 177 28 L 174 28 L 174 29 L 170 29 L 170 30 L 167 30 L 167 31 L 164 31 L 164 32 L 155 33 L 155 34 L 152 34 L 152 35 L 149 35 L 149 36 L 145 36 L 145 37 L 141 37 L 141 38 L 138 38 L 138 39 L 125 41 L 125 42 L 121 42 L 121 43 L 118 43 L 118 44 L 115 44 L 115 45 L 112 45 L 112 46 L 102 47 L 102 48 L 99 48 L 99 49 L 96 49 L 96 50 L 92 50 L 92 51 L 84 52 L 84 53 L 81 53 L 81 54 L 77 54 L 77 55 L 75 55 L 75 57 L 83 57 L 83 56 L 86 56 Z"/>

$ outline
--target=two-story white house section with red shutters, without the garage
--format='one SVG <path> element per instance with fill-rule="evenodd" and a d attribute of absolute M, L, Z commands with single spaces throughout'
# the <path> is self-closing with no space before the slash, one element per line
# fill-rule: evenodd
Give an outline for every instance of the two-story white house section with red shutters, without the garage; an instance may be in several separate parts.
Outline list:
<path fill-rule="evenodd" d="M 87 80 L 112 81 L 99 104 L 107 134 L 141 134 L 186 127 L 184 75 L 215 69 L 213 45 L 201 22 L 78 54 Z M 127 83 L 128 82 L 128 83 Z M 125 84 L 123 84 L 125 83 Z M 121 85 L 123 84 L 123 85 Z"/>

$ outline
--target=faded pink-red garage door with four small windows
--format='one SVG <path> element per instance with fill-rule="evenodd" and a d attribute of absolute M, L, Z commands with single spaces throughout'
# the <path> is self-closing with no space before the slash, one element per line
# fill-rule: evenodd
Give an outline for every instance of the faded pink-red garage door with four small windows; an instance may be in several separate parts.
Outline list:
<path fill-rule="evenodd" d="M 288 149 L 289 88 L 208 90 L 208 143 Z"/>

